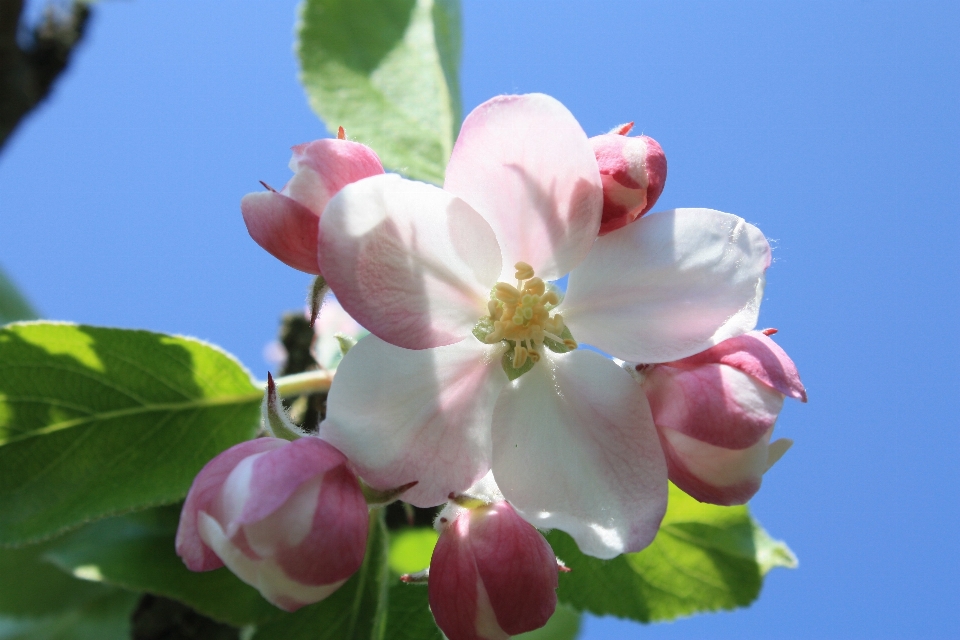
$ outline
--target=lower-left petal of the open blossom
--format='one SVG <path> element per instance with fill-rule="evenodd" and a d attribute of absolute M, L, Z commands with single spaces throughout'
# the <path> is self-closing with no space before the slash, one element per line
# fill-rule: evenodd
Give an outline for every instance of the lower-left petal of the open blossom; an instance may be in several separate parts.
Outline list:
<path fill-rule="evenodd" d="M 320 435 L 373 487 L 417 481 L 405 501 L 441 504 L 490 469 L 491 414 L 507 383 L 498 348 L 471 336 L 413 351 L 367 336 L 337 369 Z"/>

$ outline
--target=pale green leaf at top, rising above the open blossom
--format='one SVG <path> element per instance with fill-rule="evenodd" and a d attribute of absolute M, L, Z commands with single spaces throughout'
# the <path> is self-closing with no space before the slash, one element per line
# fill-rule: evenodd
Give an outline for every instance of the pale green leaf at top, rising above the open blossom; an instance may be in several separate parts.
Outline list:
<path fill-rule="evenodd" d="M 301 81 L 331 133 L 443 182 L 461 117 L 459 2 L 305 0 L 298 36 Z"/>

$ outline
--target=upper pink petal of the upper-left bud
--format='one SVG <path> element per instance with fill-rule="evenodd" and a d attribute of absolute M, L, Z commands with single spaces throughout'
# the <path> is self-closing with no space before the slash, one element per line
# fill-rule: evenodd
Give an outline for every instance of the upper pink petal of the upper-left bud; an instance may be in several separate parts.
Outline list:
<path fill-rule="evenodd" d="M 380 158 L 359 142 L 325 138 L 293 148 L 290 158 L 293 178 L 282 193 L 323 215 L 330 198 L 351 182 L 383 173 Z"/>

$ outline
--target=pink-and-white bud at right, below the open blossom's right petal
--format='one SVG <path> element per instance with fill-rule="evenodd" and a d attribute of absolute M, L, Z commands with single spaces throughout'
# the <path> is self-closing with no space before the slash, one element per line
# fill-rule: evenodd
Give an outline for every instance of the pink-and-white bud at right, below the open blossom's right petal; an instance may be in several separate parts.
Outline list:
<path fill-rule="evenodd" d="M 770 436 L 786 396 L 806 391 L 793 361 L 763 332 L 645 371 L 643 389 L 670 480 L 700 500 L 744 504 L 792 442 Z"/>

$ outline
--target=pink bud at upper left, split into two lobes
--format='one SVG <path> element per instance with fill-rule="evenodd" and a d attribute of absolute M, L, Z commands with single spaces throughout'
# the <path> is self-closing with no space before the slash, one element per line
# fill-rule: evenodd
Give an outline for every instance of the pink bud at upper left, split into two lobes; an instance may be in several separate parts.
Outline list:
<path fill-rule="evenodd" d="M 369 147 L 341 139 L 297 145 L 290 159 L 293 178 L 278 193 L 249 193 L 240 202 L 250 236 L 284 263 L 319 274 L 317 244 L 320 216 L 340 189 L 383 173 Z"/>

